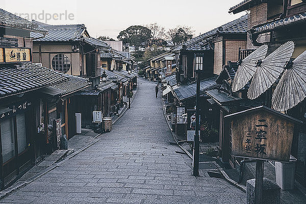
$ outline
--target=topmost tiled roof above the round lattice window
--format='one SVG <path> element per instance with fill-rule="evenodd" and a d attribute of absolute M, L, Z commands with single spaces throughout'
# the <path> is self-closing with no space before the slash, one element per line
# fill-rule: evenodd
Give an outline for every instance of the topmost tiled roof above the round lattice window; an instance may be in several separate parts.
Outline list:
<path fill-rule="evenodd" d="M 43 38 L 41 34 L 31 32 L 31 37 L 39 38 L 35 41 L 69 41 L 81 37 L 86 30 L 84 24 L 71 24 L 71 25 L 49 25 L 38 21 L 33 21 L 40 28 L 47 30 L 47 35 Z"/>

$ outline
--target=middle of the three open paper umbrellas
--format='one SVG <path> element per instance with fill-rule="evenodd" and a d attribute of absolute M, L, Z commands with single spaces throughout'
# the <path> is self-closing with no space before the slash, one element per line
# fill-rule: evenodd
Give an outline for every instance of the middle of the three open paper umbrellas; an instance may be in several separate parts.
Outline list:
<path fill-rule="evenodd" d="M 293 51 L 294 43 L 289 41 L 278 47 L 264 60 L 257 62 L 257 69 L 247 92 L 249 99 L 257 98 L 276 82 Z"/>

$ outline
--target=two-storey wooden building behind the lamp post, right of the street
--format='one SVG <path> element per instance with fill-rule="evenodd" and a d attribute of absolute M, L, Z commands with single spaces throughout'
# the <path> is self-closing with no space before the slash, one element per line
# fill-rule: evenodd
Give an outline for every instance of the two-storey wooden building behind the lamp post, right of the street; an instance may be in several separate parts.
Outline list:
<path fill-rule="evenodd" d="M 187 120 L 183 124 L 180 122 L 179 126 L 181 127 L 175 128 L 177 133 L 186 136 L 190 127 L 190 116 L 195 112 L 196 66 L 203 70 L 199 76 L 201 80 L 201 126 L 210 130 L 213 127 L 215 133 L 219 132 L 219 117 L 222 113 L 219 108 L 213 106 L 215 101 L 211 100 L 206 91 L 219 89 L 217 90 L 219 93 L 220 84 L 218 84 L 217 76 L 227 61 L 239 60 L 239 49 L 246 46 L 246 31 L 247 15 L 244 15 L 173 48 L 172 53 L 175 54 L 174 60 L 176 65 L 179 65 L 179 71 L 176 72 L 177 86 L 171 88 L 174 96 L 172 110 L 176 117 L 181 117 L 177 115 L 177 110 L 175 110 L 177 107 L 185 109 L 184 112 L 181 112 L 183 115 L 187 113 Z M 221 84 L 222 82 L 221 80 Z M 202 134 L 201 137 L 203 138 L 204 135 Z M 209 139 L 207 141 L 219 141 L 218 134 L 214 134 L 210 138 L 205 137 Z"/>

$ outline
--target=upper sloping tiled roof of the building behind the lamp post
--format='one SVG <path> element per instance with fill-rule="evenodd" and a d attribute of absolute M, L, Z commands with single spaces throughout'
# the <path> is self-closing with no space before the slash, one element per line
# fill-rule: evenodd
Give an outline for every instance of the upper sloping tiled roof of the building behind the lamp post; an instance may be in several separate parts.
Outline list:
<path fill-rule="evenodd" d="M 221 25 L 219 28 L 213 29 L 209 32 L 206 32 L 202 35 L 192 38 L 191 40 L 188 40 L 187 42 L 177 45 L 173 48 L 173 50 L 180 51 L 183 48 L 183 45 L 185 45 L 186 47 L 189 47 L 217 33 L 225 34 L 225 33 L 246 33 L 246 32 L 247 32 L 247 15 L 244 15 L 236 20 L 233 20 L 231 22 L 225 23 L 224 25 Z"/>

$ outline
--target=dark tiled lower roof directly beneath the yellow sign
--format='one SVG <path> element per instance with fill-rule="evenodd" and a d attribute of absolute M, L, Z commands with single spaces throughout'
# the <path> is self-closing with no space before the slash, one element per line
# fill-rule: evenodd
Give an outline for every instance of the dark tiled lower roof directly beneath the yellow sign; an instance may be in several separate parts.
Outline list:
<path fill-rule="evenodd" d="M 67 75 L 33 63 L 24 68 L 0 68 L 0 97 L 23 93 L 67 80 Z"/>

